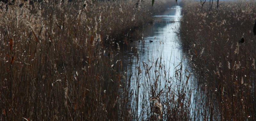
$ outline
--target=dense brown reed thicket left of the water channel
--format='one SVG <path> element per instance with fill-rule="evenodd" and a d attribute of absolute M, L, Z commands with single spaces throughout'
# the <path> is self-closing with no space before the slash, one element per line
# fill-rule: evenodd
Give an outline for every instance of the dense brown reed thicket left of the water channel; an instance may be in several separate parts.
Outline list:
<path fill-rule="evenodd" d="M 121 82 L 127 77 L 116 42 L 152 22 L 161 5 L 1 2 L 0 120 L 136 119 L 133 98 L 120 97 L 130 87 Z"/>

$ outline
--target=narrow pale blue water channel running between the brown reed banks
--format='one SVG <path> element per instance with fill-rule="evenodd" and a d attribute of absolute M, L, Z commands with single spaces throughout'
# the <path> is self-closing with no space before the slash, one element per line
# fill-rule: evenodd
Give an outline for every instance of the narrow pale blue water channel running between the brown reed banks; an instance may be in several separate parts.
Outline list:
<path fill-rule="evenodd" d="M 132 40 L 124 51 L 126 83 L 130 85 L 129 97 L 133 97 L 133 114 L 142 119 L 150 101 L 149 97 L 164 98 L 165 88 L 178 88 L 177 72 L 185 65 L 184 54 L 178 43 L 181 7 L 172 6 L 154 16 L 154 24 L 143 30 L 140 40 Z M 184 60 L 183 60 L 184 59 Z M 183 65 L 183 66 L 184 66 Z M 180 73 L 178 73 L 180 74 Z M 179 80 L 179 79 L 178 79 Z M 179 80 L 181 81 L 181 80 Z"/>

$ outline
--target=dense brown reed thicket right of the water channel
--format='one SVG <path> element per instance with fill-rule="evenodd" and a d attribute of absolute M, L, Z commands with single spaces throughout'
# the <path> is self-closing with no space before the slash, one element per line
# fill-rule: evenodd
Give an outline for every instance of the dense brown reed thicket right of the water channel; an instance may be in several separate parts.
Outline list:
<path fill-rule="evenodd" d="M 222 1 L 218 10 L 183 2 L 181 44 L 198 80 L 194 120 L 256 120 L 255 1 Z"/>

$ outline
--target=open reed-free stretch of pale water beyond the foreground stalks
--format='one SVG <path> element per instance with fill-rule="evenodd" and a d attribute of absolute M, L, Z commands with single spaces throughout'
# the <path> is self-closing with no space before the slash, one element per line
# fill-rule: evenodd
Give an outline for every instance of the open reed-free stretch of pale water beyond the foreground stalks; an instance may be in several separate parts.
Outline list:
<path fill-rule="evenodd" d="M 137 55 L 134 54 L 134 56 L 140 58 L 137 67 L 143 67 L 142 62 L 147 62 L 148 59 L 153 61 L 158 57 L 162 57 L 165 66 L 170 69 L 174 69 L 174 65 L 180 63 L 182 55 L 179 44 L 176 42 L 178 37 L 175 33 L 180 26 L 180 14 L 180 6 L 167 8 L 161 15 L 154 16 L 155 23 L 145 28 L 144 37 L 143 40 L 140 40 L 140 43 L 138 41 L 131 43 L 130 48 L 134 46 L 137 48 L 132 48 L 124 53 L 134 54 L 134 51 L 138 50 Z M 149 41 L 153 42 L 150 43 Z M 138 60 L 134 59 L 133 64 L 135 65 L 137 62 Z M 170 73 L 173 73 L 173 71 Z"/>

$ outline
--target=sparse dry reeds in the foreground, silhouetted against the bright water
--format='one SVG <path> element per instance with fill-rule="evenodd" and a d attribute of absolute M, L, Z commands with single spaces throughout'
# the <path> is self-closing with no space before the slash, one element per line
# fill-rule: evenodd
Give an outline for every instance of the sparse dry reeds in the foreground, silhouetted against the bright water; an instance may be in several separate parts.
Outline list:
<path fill-rule="evenodd" d="M 195 87 L 183 55 L 180 63 L 171 68 L 169 65 L 174 62 L 164 60 L 161 49 L 154 57 L 149 54 L 145 62 L 137 59 L 141 54 L 139 50 L 140 46 L 131 50 L 134 53 L 129 57 L 132 65 L 126 66 L 123 73 L 126 89 L 129 89 L 124 91 L 124 96 L 132 105 L 127 120 L 192 120 Z"/>

